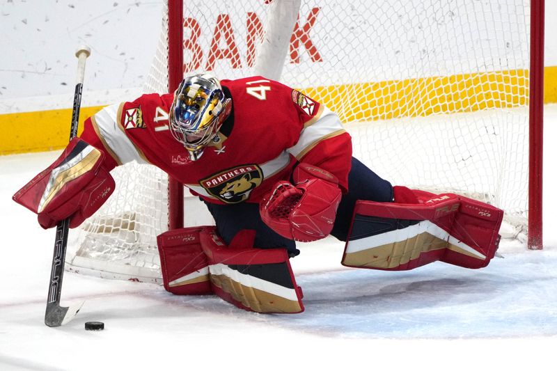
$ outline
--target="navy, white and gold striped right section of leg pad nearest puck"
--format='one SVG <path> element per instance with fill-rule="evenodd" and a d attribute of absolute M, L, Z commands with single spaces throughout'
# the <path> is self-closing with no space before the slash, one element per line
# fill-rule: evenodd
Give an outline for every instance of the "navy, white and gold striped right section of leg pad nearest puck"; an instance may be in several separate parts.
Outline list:
<path fill-rule="evenodd" d="M 214 293 L 258 313 L 301 313 L 303 294 L 285 248 L 253 248 L 255 233 L 243 230 L 226 246 L 212 227 L 201 232 Z"/>

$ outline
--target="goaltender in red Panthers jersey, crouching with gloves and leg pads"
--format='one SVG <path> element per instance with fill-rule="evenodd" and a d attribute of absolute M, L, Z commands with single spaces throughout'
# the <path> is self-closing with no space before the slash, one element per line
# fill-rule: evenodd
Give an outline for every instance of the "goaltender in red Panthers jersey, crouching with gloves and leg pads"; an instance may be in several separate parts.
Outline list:
<path fill-rule="evenodd" d="M 401 150 L 403 150 L 401 148 Z M 185 78 L 175 93 L 107 106 L 14 200 L 42 228 L 79 226 L 111 195 L 111 169 L 158 166 L 201 198 L 216 226 L 157 241 L 164 287 L 217 294 L 259 313 L 300 313 L 295 241 L 346 241 L 342 264 L 406 270 L 441 260 L 485 267 L 503 212 L 457 194 L 392 187 L 352 157 L 338 116 L 265 77 Z"/>

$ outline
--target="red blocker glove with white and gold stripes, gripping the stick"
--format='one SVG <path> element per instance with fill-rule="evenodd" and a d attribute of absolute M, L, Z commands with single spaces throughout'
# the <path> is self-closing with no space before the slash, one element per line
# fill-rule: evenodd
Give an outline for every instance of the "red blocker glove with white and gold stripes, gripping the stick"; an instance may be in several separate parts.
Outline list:
<path fill-rule="evenodd" d="M 52 228 L 68 217 L 70 228 L 75 228 L 114 191 L 103 160 L 103 152 L 74 138 L 54 164 L 19 189 L 13 200 L 38 214 L 42 228 Z"/>

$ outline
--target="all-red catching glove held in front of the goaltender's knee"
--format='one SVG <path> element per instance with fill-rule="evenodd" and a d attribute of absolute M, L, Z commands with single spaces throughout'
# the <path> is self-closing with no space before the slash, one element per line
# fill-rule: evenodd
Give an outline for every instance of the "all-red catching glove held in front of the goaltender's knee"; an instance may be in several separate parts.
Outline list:
<path fill-rule="evenodd" d="M 337 178 L 301 163 L 290 182 L 280 181 L 259 206 L 261 219 L 279 235 L 300 242 L 327 237 L 333 229 L 342 196 Z"/>

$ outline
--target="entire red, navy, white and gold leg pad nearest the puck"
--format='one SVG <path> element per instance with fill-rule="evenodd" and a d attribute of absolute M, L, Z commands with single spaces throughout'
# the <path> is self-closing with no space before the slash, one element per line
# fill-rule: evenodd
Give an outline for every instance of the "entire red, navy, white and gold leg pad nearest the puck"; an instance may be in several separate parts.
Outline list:
<path fill-rule="evenodd" d="M 242 230 L 227 246 L 214 226 L 180 228 L 157 237 L 164 288 L 178 295 L 217 294 L 258 313 L 300 313 L 303 294 L 285 248 L 253 248 Z"/>

